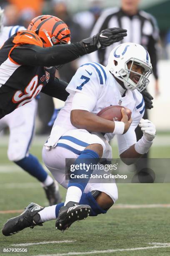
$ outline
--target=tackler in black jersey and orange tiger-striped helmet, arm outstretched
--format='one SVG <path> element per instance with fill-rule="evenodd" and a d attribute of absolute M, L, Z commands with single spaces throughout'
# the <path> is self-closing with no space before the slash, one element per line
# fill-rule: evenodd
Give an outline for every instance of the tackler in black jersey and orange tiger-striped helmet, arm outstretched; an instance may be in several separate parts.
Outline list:
<path fill-rule="evenodd" d="M 51 15 L 34 18 L 28 31 L 17 32 L 0 49 L 0 118 L 35 99 L 40 91 L 65 101 L 67 83 L 55 78 L 55 67 L 126 35 L 125 29 L 108 28 L 70 44 L 64 21 Z"/>

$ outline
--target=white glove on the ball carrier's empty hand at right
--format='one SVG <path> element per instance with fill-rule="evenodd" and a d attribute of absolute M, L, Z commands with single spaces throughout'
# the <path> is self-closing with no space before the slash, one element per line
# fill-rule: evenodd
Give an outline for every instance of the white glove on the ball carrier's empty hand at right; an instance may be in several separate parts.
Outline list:
<path fill-rule="evenodd" d="M 139 123 L 139 127 L 141 131 L 143 131 L 143 136 L 148 140 L 152 141 L 156 136 L 156 128 L 155 125 L 150 122 L 148 119 L 141 119 Z"/>

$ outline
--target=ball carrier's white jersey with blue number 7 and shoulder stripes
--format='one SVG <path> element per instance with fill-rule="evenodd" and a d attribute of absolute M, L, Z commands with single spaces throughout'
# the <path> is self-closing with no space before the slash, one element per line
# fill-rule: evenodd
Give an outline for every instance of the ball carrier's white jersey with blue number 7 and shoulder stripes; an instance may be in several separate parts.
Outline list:
<path fill-rule="evenodd" d="M 110 105 L 122 105 L 132 111 L 133 123 L 129 130 L 134 133 L 145 110 L 143 96 L 138 90 L 127 90 L 125 97 L 122 97 L 119 86 L 112 74 L 101 64 L 90 62 L 77 69 L 66 88 L 70 95 L 52 128 L 51 136 L 55 135 L 55 142 L 57 143 L 57 140 L 66 131 L 77 129 L 70 122 L 70 112 L 74 109 L 87 110 L 97 114 Z M 113 133 L 105 134 L 107 141 L 113 137 Z M 50 145 L 48 144 L 48 146 Z"/>

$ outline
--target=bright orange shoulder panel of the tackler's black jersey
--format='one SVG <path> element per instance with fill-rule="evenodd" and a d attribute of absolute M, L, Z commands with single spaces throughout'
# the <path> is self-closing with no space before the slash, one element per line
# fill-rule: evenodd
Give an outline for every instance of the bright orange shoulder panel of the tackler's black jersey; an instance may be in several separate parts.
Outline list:
<path fill-rule="evenodd" d="M 17 35 L 13 39 L 14 44 L 33 44 L 43 47 L 43 43 L 40 37 L 32 31 L 18 31 Z"/>

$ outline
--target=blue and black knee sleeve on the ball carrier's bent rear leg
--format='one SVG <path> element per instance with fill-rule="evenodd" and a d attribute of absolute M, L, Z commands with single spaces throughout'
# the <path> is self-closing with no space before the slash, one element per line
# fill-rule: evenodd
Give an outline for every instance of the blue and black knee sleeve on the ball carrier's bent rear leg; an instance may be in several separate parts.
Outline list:
<path fill-rule="evenodd" d="M 90 205 L 92 208 L 90 212 L 90 216 L 97 216 L 101 213 L 106 213 L 107 210 L 102 209 L 96 202 L 97 197 L 100 195 L 100 191 L 94 190 L 91 192 L 88 192 L 87 194 L 83 193 L 82 197 L 80 199 L 80 204 L 82 205 Z"/>

